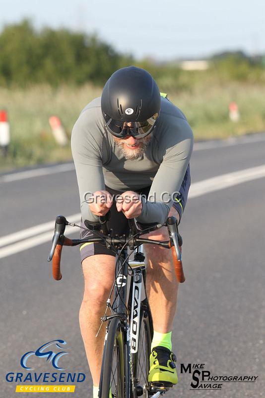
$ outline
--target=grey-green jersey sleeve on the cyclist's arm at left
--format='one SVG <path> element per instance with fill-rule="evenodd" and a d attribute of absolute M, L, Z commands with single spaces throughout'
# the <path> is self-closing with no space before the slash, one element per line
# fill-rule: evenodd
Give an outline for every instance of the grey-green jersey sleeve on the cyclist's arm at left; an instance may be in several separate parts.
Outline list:
<path fill-rule="evenodd" d="M 71 150 L 77 177 L 82 219 L 98 221 L 91 213 L 89 198 L 96 191 L 105 190 L 102 171 L 102 136 L 93 127 L 93 116 L 86 110 L 77 119 L 71 136 Z M 92 132 L 95 131 L 93 134 Z"/>

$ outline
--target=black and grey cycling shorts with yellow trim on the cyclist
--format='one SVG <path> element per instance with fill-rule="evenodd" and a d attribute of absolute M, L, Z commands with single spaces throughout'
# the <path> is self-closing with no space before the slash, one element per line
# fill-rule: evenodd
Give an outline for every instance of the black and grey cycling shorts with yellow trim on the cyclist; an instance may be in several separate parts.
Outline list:
<path fill-rule="evenodd" d="M 187 202 L 190 185 L 191 185 L 190 166 L 188 166 L 188 169 L 186 171 L 185 177 L 184 177 L 182 185 L 181 185 L 180 192 L 174 198 L 174 202 L 173 202 L 173 207 L 178 211 L 178 213 L 180 215 L 180 219 L 182 217 L 182 214 L 183 214 L 186 202 Z M 147 198 L 150 188 L 151 187 L 146 187 L 141 190 L 133 190 L 133 192 L 137 192 L 137 194 L 144 195 Z M 121 192 L 121 191 L 115 191 L 108 187 L 106 187 L 106 191 L 108 191 L 114 197 L 116 195 L 123 194 L 123 192 Z M 127 234 L 129 232 L 128 220 L 122 211 L 119 212 L 117 210 L 115 198 L 113 200 L 113 204 L 109 211 L 110 211 L 110 218 L 108 221 L 108 226 L 109 226 L 109 228 L 113 229 L 113 234 L 118 234 L 118 235 Z M 82 220 L 81 220 L 81 226 L 86 228 Z M 88 231 L 87 229 L 86 230 L 81 229 L 80 231 L 81 231 L 80 232 L 81 239 L 96 236 L 96 235 L 93 235 L 93 233 Z M 107 249 L 106 245 L 104 245 L 104 244 L 83 243 L 82 245 L 80 245 L 81 262 L 86 257 L 93 256 L 95 254 L 107 254 L 107 255 L 115 257 L 115 253 L 113 251 Z"/>

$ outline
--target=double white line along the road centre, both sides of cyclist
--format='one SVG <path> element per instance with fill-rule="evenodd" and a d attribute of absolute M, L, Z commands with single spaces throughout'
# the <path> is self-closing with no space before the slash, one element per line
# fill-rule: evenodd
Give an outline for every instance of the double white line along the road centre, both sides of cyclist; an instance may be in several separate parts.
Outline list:
<path fill-rule="evenodd" d="M 199 196 L 209 194 L 210 192 L 220 191 L 234 185 L 257 180 L 263 177 L 265 177 L 265 165 L 209 178 L 192 184 L 189 199 L 197 198 Z M 79 223 L 81 214 L 72 214 L 66 218 L 70 222 Z M 54 224 L 55 221 L 53 220 L 3 236 L 0 238 L 0 258 L 10 256 L 11 254 L 21 252 L 45 242 L 51 242 Z M 66 227 L 66 235 L 70 235 L 77 230 L 79 230 L 79 228 L 68 226 Z"/>

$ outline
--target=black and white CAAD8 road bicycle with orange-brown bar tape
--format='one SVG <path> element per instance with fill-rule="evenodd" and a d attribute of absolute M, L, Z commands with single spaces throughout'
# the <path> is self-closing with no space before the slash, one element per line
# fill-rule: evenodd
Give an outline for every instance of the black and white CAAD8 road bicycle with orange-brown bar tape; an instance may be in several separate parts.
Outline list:
<path fill-rule="evenodd" d="M 56 217 L 53 244 L 48 257 L 48 261 L 53 260 L 53 277 L 60 280 L 63 246 L 99 242 L 116 253 L 115 280 L 105 314 L 101 317 L 102 324 L 106 322 L 106 335 L 99 398 L 157 398 L 170 388 L 163 384 L 148 383 L 153 324 L 146 297 L 146 265 L 142 245 L 171 248 L 176 277 L 182 283 L 185 281 L 181 255 L 182 238 L 173 216 L 168 217 L 165 224 L 140 225 L 135 219 L 128 219 L 128 222 L 128 235 L 113 236 L 112 230 L 108 228 L 108 216 L 100 217 L 99 223 L 87 228 L 96 236 L 69 239 L 64 235 L 66 225 L 78 225 L 59 215 Z M 161 226 L 168 228 L 168 241 L 140 237 Z M 129 260 L 133 252 L 134 258 Z"/>

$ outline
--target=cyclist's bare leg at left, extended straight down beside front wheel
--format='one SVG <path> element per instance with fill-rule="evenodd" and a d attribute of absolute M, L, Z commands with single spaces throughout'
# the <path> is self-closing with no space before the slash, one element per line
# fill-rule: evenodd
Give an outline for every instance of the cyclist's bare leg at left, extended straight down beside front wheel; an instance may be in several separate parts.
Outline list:
<path fill-rule="evenodd" d="M 79 323 L 93 385 L 99 386 L 106 332 L 105 323 L 97 337 L 96 334 L 114 282 L 115 257 L 97 254 L 83 260 L 82 266 L 85 288 L 79 312 Z"/>

